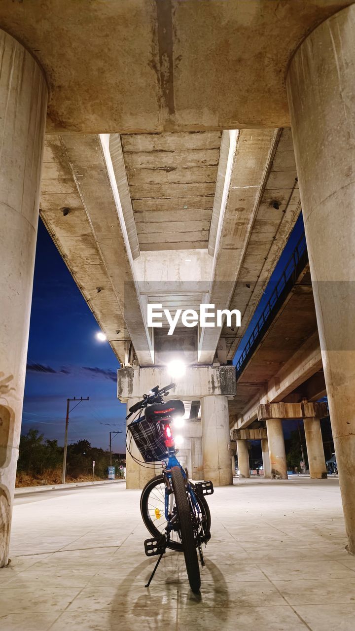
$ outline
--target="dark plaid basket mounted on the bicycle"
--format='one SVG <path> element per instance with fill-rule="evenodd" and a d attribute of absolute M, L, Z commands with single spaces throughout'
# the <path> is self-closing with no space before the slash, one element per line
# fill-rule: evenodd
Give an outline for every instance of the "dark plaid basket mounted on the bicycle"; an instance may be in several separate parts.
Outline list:
<path fill-rule="evenodd" d="M 166 457 L 162 423 L 138 418 L 128 425 L 128 429 L 145 463 L 156 463 Z"/>

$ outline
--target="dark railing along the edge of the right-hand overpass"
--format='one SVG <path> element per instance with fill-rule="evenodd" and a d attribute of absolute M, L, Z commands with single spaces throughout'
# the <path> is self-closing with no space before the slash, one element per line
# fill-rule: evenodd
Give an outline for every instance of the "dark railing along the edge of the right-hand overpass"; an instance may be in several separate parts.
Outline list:
<path fill-rule="evenodd" d="M 306 245 L 306 236 L 303 232 L 298 241 L 298 244 L 292 252 L 291 257 L 289 258 L 289 261 L 287 261 L 284 271 L 275 284 L 275 288 L 267 304 L 265 305 L 265 308 L 263 309 L 262 315 L 260 315 L 258 322 L 256 322 L 253 333 L 251 333 L 251 336 L 244 347 L 243 353 L 236 363 L 237 380 L 242 374 L 251 356 L 255 352 L 256 346 L 258 346 L 271 322 L 274 320 L 274 317 L 279 311 L 286 296 L 289 294 L 292 287 L 296 283 L 296 280 L 298 279 L 301 271 L 304 269 L 307 261 L 308 252 Z"/>

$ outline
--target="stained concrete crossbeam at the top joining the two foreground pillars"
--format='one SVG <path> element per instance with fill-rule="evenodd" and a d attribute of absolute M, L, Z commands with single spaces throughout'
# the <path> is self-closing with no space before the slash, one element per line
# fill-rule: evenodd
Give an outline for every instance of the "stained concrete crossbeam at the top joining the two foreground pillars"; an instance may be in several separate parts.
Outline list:
<path fill-rule="evenodd" d="M 349 0 L 1 0 L 49 84 L 48 131 L 289 126 L 285 75 Z"/>

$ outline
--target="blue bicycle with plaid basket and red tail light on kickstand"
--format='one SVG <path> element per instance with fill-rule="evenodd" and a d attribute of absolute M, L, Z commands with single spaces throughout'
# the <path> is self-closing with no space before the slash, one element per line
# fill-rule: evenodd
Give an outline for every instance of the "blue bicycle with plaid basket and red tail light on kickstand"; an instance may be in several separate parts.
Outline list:
<path fill-rule="evenodd" d="M 176 454 L 171 423 L 174 418 L 183 416 L 183 401 L 171 399 L 164 403 L 163 396 L 176 384 L 162 389 L 155 386 L 143 399 L 129 408 L 129 419 L 135 412 L 136 418 L 129 423 L 126 433 L 126 447 L 133 459 L 142 466 L 145 463 L 162 463 L 162 474 L 155 476 L 143 488 L 140 498 L 141 516 L 153 538 L 144 542 L 147 557 L 159 555 L 152 575 L 145 587 L 149 587 L 166 548 L 183 551 L 188 580 L 193 592 L 201 586 L 200 565 L 203 567 L 202 545 L 210 540 L 211 517 L 205 495 L 212 495 L 211 481 L 193 483 L 188 470 L 179 463 Z M 142 411 L 144 410 L 144 415 Z M 128 433 L 131 434 L 129 444 Z M 144 463 L 136 459 L 130 451 L 131 440 L 143 457 Z M 197 554 L 198 551 L 198 554 Z"/>

